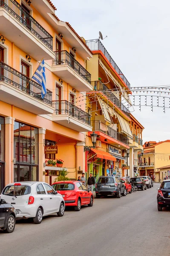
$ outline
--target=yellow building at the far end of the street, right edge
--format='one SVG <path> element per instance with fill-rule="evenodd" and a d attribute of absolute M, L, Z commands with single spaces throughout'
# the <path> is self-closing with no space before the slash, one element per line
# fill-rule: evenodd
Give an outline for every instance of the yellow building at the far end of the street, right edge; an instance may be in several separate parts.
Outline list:
<path fill-rule="evenodd" d="M 140 175 L 156 176 L 156 182 L 161 182 L 158 169 L 170 164 L 170 140 L 156 143 L 149 141 L 144 143 L 143 155 L 138 158 Z"/>

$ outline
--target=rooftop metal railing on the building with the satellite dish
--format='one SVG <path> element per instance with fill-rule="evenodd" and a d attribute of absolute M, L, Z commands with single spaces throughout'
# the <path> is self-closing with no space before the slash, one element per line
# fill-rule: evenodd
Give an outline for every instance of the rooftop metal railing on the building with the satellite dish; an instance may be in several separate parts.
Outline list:
<path fill-rule="evenodd" d="M 121 79 L 124 81 L 124 83 L 127 85 L 127 87 L 130 89 L 130 82 L 126 79 L 124 74 L 121 72 L 118 65 L 115 63 L 115 61 L 112 59 L 112 57 L 109 55 L 109 52 L 107 52 L 107 49 L 104 47 L 104 45 L 101 43 L 99 39 L 92 39 L 87 40 L 86 45 L 92 50 L 101 50 L 103 52 L 104 56 L 108 59 L 109 63 L 112 64 L 112 67 L 115 69 L 115 71 L 118 73 L 118 75 L 121 77 Z"/>

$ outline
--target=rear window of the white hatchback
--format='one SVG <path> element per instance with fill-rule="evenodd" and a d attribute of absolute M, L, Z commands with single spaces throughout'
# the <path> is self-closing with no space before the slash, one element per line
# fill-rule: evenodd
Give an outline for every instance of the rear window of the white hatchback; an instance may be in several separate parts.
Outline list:
<path fill-rule="evenodd" d="M 3 195 L 28 195 L 31 193 L 31 187 L 30 186 L 6 186 L 6 188 L 3 190 Z"/>

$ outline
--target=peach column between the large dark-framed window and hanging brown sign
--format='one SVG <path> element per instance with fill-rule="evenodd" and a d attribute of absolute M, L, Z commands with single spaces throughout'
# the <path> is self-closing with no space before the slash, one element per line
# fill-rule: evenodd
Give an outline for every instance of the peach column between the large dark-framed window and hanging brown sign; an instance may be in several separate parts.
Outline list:
<path fill-rule="evenodd" d="M 45 154 L 44 154 L 44 140 L 45 140 L 45 134 L 46 129 L 45 128 L 39 128 L 39 181 L 45 182 L 45 175 L 43 175 L 43 172 L 45 172 Z"/>

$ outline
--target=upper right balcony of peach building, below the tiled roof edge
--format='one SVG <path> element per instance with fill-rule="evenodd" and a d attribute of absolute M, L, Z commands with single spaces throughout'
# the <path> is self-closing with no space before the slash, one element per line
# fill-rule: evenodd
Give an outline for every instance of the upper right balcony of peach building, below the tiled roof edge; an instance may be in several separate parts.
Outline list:
<path fill-rule="evenodd" d="M 55 52 L 52 72 L 79 92 L 92 90 L 90 73 L 67 51 Z"/>

